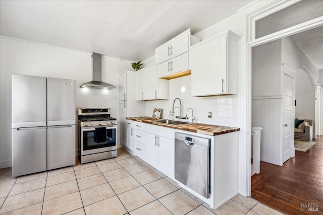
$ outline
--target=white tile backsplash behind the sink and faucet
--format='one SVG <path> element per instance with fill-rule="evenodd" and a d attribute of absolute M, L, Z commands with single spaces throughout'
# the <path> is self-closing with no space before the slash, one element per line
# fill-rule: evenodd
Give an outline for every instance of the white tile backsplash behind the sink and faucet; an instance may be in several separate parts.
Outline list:
<path fill-rule="evenodd" d="M 186 91 L 181 92 L 182 87 Z M 146 116 L 152 116 L 154 108 L 161 108 L 161 118 L 169 118 L 170 110 L 173 107 L 175 98 L 180 98 L 182 101 L 182 116 L 187 114 L 188 119 L 176 119 L 190 122 L 192 119 L 192 111 L 187 111 L 188 108 L 193 108 L 193 115 L 197 123 L 207 123 L 224 126 L 238 126 L 238 98 L 237 96 L 210 96 L 210 97 L 194 97 L 191 96 L 191 75 L 169 80 L 169 100 L 153 100 L 146 102 Z M 179 107 L 180 103 L 177 100 L 175 107 Z M 233 114 L 232 118 L 226 117 L 226 111 Z M 212 117 L 208 118 L 208 112 L 212 112 Z M 175 116 L 179 115 L 179 108 L 175 108 Z"/>

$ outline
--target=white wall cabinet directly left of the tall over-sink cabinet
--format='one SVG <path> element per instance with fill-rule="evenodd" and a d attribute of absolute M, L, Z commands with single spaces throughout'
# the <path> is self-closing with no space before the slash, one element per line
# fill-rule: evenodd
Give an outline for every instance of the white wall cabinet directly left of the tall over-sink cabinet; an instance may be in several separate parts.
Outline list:
<path fill-rule="evenodd" d="M 158 79 L 157 65 L 144 69 L 144 100 L 169 99 L 168 81 Z"/>

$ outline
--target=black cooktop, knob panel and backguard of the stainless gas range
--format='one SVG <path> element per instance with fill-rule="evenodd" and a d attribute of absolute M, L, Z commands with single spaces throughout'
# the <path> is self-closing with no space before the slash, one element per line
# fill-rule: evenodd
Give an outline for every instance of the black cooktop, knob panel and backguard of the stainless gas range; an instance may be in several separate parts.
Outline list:
<path fill-rule="evenodd" d="M 110 108 L 79 108 L 79 122 L 81 127 L 117 125 L 117 119 L 110 116 Z"/>

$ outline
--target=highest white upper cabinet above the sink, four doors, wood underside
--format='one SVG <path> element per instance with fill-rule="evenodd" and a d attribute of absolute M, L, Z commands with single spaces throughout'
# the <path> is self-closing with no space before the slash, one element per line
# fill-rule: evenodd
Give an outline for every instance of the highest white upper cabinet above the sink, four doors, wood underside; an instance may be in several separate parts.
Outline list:
<path fill-rule="evenodd" d="M 156 48 L 158 78 L 173 79 L 190 74 L 188 50 L 191 45 L 200 41 L 199 38 L 192 36 L 188 29 Z"/>

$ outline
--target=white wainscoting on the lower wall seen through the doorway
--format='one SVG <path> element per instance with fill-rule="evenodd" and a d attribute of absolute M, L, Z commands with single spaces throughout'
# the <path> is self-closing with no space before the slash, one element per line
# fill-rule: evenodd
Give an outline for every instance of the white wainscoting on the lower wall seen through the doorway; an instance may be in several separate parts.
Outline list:
<path fill-rule="evenodd" d="M 252 127 L 262 127 L 260 161 L 282 165 L 281 98 L 252 99 Z"/>

